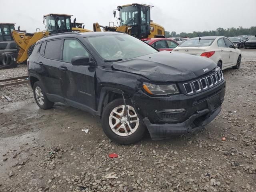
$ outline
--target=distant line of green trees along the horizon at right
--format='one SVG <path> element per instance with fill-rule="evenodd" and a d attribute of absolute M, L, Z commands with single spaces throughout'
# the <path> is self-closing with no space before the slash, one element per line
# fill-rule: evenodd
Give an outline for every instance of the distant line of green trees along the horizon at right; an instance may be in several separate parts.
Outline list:
<path fill-rule="evenodd" d="M 165 31 L 165 37 L 198 37 L 199 36 L 226 36 L 226 37 L 234 37 L 239 35 L 256 35 L 256 26 L 252 26 L 250 28 L 218 28 L 212 31 L 193 31 L 192 33 L 181 32 L 180 34 L 176 34 L 175 31 Z"/>

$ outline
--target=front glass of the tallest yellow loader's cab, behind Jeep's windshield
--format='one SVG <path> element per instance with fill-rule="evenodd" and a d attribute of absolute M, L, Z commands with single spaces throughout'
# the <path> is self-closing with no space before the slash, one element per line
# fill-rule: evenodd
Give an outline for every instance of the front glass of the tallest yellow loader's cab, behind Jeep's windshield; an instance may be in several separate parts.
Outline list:
<path fill-rule="evenodd" d="M 120 25 L 137 25 L 138 7 L 125 6 L 120 10 Z"/>

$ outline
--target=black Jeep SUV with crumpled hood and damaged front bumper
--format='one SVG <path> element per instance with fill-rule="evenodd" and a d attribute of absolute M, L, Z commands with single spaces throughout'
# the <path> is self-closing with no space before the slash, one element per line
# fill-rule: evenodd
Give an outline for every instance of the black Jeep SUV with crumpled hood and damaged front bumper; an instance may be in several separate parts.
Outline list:
<path fill-rule="evenodd" d="M 29 57 L 34 98 L 42 109 L 64 102 L 101 116 L 120 144 L 203 128 L 220 112 L 226 81 L 208 59 L 159 52 L 118 32 L 42 38 Z"/>

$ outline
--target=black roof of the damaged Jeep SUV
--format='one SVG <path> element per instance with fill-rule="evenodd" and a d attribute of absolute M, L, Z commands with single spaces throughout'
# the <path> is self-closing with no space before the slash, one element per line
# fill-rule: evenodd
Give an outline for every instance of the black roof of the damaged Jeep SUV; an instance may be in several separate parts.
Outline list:
<path fill-rule="evenodd" d="M 119 35 L 119 34 L 124 35 L 125 33 L 122 33 L 122 32 L 86 32 L 86 33 L 67 32 L 67 33 L 59 33 L 59 34 L 45 36 L 38 42 L 57 39 L 57 38 L 75 37 L 75 36 L 92 37 L 92 36 Z"/>

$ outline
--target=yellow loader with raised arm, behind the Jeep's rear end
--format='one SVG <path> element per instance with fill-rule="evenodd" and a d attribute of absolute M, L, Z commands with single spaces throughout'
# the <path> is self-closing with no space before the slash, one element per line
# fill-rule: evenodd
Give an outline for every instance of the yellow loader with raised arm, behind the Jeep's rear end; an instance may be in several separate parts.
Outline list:
<path fill-rule="evenodd" d="M 17 63 L 22 63 L 27 60 L 32 53 L 35 43 L 44 36 L 50 34 L 64 33 L 64 32 L 92 32 L 84 28 L 76 27 L 76 24 L 71 23 L 71 16 L 67 14 L 47 14 L 44 15 L 43 22 L 46 25 L 46 30 L 36 33 L 27 33 L 13 30 L 12 37 L 16 44 L 20 47 Z M 23 36 L 23 37 L 21 37 Z"/>

